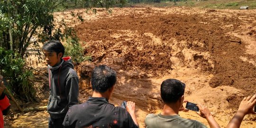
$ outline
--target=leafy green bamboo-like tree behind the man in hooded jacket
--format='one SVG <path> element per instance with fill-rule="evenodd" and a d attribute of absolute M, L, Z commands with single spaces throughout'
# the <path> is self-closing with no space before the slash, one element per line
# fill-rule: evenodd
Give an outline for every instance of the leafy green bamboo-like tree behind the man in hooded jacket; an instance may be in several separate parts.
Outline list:
<path fill-rule="evenodd" d="M 25 60 L 29 55 L 40 56 L 39 42 L 47 40 L 71 40 L 79 46 L 79 39 L 72 27 L 62 20 L 60 27 L 54 25 L 53 13 L 56 7 L 67 0 L 0 0 L 0 73 L 9 80 L 9 89 L 26 101 L 33 101 L 32 76 Z M 95 6 L 110 9 L 111 5 L 125 0 L 74 0 L 91 8 Z M 79 16 L 78 16 L 79 17 Z M 80 16 L 79 19 L 82 20 Z M 21 72 L 17 72 L 21 71 Z M 30 73 L 29 73 L 30 72 Z M 29 75 L 25 75 L 27 73 Z M 26 85 L 24 83 L 26 82 Z M 24 90 L 24 86 L 28 89 Z"/>

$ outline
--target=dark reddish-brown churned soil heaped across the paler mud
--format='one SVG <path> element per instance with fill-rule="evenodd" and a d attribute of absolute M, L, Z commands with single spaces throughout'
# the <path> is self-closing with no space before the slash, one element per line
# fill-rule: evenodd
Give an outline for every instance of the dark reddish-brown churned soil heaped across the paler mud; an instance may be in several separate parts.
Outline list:
<path fill-rule="evenodd" d="M 146 9 L 146 12 L 151 11 Z M 79 37 L 88 42 L 86 54 L 97 57 L 104 53 L 104 58 L 119 58 L 122 70 L 138 69 L 150 76 L 170 72 L 174 64 L 171 56 L 188 63 L 184 60 L 184 50 L 198 51 L 190 58 L 195 64 L 188 68 L 212 73 L 211 87 L 228 85 L 250 95 L 256 90 L 253 86 L 256 85 L 256 66 L 240 57 L 255 60 L 256 55 L 245 55 L 247 44 L 232 33 L 241 31 L 245 22 L 252 23 L 253 20 L 241 20 L 239 15 L 218 17 L 211 11 L 190 15 L 153 13 L 147 17 L 131 14 L 82 23 L 76 30 Z M 253 27 L 250 28 L 249 34 L 253 36 Z M 173 46 L 176 47 L 175 55 L 171 54 Z M 210 53 L 210 58 L 205 58 L 200 52 Z M 240 99 L 232 96 L 227 100 L 230 107 L 237 108 Z"/>

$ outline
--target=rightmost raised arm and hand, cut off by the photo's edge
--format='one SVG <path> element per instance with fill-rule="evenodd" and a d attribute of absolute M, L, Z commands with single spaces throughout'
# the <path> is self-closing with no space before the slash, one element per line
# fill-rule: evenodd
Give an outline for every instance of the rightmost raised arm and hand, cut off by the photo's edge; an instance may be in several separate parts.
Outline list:
<path fill-rule="evenodd" d="M 230 120 L 227 128 L 239 128 L 241 122 L 243 121 L 246 114 L 256 114 L 253 110 L 253 107 L 256 104 L 256 94 L 248 97 L 245 97 L 238 108 L 235 116 Z"/>

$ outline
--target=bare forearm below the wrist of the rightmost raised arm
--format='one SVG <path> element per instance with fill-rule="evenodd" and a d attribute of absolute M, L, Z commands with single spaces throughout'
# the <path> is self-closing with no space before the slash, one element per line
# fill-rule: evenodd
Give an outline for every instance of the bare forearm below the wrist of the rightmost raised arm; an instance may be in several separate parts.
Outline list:
<path fill-rule="evenodd" d="M 239 128 L 244 117 L 245 114 L 238 111 L 235 116 L 229 121 L 229 124 L 226 128 Z"/>

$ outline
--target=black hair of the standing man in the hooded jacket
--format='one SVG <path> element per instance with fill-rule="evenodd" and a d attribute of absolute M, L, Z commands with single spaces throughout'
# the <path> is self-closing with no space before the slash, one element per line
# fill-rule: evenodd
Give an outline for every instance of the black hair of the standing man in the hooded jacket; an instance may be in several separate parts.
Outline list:
<path fill-rule="evenodd" d="M 44 44 L 42 47 L 43 50 L 49 51 L 49 52 L 56 52 L 57 55 L 59 53 L 62 53 L 62 57 L 64 56 L 65 53 L 65 48 L 62 45 L 62 43 L 58 40 L 50 40 Z"/>

